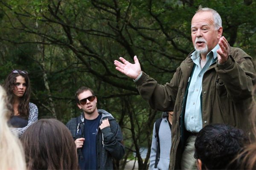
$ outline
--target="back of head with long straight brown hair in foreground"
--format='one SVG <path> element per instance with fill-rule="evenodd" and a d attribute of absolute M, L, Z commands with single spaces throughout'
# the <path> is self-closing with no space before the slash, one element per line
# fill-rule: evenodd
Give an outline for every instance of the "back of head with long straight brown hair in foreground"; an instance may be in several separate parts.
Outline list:
<path fill-rule="evenodd" d="M 79 169 L 70 130 L 56 119 L 40 119 L 21 137 L 28 170 Z"/>

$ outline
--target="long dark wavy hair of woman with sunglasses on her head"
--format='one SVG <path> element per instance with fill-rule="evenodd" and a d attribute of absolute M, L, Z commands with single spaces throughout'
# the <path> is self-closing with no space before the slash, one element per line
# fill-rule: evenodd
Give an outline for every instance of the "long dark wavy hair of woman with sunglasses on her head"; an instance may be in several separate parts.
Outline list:
<path fill-rule="evenodd" d="M 8 105 L 8 109 L 10 111 L 12 111 L 12 114 L 14 113 L 12 105 L 14 104 L 14 101 L 15 101 L 14 99 L 17 96 L 15 96 L 15 94 L 13 94 L 13 89 L 15 86 L 16 77 L 18 77 L 18 76 L 24 77 L 24 79 L 26 81 L 26 91 L 25 91 L 24 95 L 19 98 L 20 102 L 19 102 L 19 106 L 18 106 L 18 113 L 20 113 L 21 117 L 28 119 L 28 117 L 29 117 L 29 99 L 30 99 L 30 94 L 31 94 L 30 80 L 29 80 L 28 74 L 24 74 L 22 72 L 18 72 L 18 73 L 12 72 L 6 78 L 6 80 L 4 82 L 4 88 L 5 88 L 7 96 L 8 96 L 9 104 L 11 104 L 11 105 Z"/>

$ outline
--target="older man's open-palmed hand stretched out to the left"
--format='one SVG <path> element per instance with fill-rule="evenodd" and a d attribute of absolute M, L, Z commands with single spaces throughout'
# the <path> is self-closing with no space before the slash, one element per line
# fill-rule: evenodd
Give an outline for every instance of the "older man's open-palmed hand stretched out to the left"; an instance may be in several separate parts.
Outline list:
<path fill-rule="evenodd" d="M 123 57 L 119 58 L 122 62 L 117 60 L 114 61 L 114 65 L 116 65 L 116 70 L 120 71 L 122 74 L 125 74 L 132 79 L 137 79 L 141 74 L 140 62 L 137 59 L 137 56 L 134 56 L 134 64 L 126 61 Z"/>

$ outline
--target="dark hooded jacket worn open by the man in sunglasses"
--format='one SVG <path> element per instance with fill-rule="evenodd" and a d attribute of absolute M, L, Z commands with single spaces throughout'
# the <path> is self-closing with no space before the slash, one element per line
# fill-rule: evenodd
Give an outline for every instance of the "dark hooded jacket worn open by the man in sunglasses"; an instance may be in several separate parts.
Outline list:
<path fill-rule="evenodd" d="M 99 125 L 102 124 L 102 120 L 108 119 L 110 127 L 105 127 L 100 130 L 98 127 L 97 133 L 97 169 L 113 169 L 112 158 L 122 159 L 125 154 L 125 148 L 122 145 L 122 132 L 116 122 L 116 119 L 105 110 L 98 109 L 98 113 L 102 116 L 99 122 Z M 67 122 L 67 127 L 71 131 L 71 134 L 74 140 L 81 138 L 81 136 L 76 136 L 76 130 L 78 124 L 80 124 L 81 129 L 84 129 L 84 113 L 82 112 L 80 116 L 71 119 Z M 81 148 L 78 149 L 79 161 L 82 161 L 84 158 L 82 156 Z"/>

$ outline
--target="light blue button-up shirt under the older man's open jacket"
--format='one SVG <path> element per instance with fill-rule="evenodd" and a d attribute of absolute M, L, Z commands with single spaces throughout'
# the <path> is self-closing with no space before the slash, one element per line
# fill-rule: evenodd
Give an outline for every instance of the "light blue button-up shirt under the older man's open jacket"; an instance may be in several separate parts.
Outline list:
<path fill-rule="evenodd" d="M 217 58 L 217 50 L 219 48 L 220 46 L 216 45 L 215 48 L 207 54 L 206 64 L 203 68 L 201 68 L 200 65 L 200 53 L 195 51 L 191 54 L 191 59 L 195 63 L 195 70 L 190 80 L 184 117 L 185 128 L 189 132 L 198 133 L 203 128 L 200 100 L 200 95 L 202 94 L 202 80 L 204 73 Z"/>

